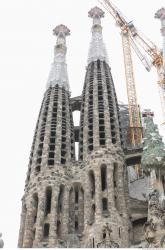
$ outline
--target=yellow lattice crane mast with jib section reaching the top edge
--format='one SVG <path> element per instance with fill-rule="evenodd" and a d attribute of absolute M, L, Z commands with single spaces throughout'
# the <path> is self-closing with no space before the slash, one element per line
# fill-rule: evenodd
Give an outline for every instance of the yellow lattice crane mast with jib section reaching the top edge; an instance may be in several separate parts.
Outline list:
<path fill-rule="evenodd" d="M 131 36 L 128 29 L 127 22 L 122 17 L 120 12 L 114 7 L 109 0 L 99 1 L 104 8 L 114 17 L 117 25 L 121 29 L 123 55 L 124 55 L 124 67 L 128 97 L 128 110 L 130 118 L 130 131 L 131 144 L 133 146 L 139 145 L 142 139 L 142 130 L 140 122 L 139 107 L 137 103 L 135 78 L 132 63 L 131 54 Z"/>

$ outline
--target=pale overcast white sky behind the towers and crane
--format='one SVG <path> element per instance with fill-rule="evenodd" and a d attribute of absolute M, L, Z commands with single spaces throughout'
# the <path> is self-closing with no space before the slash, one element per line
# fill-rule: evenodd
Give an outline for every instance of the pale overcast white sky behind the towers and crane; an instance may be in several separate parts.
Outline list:
<path fill-rule="evenodd" d="M 113 0 L 119 9 L 159 47 L 160 21 L 155 12 L 164 0 Z M 46 81 L 53 61 L 52 30 L 67 25 L 67 64 L 72 96 L 83 88 L 92 21 L 88 11 L 97 0 L 1 0 L 0 1 L 0 232 L 6 247 L 16 247 L 21 197 L 34 129 Z M 118 99 L 127 102 L 119 29 L 106 13 L 102 20 Z M 151 108 L 160 124 L 161 107 L 156 70 L 148 73 L 134 58 L 138 102 Z M 163 134 L 164 131 L 161 130 Z"/>

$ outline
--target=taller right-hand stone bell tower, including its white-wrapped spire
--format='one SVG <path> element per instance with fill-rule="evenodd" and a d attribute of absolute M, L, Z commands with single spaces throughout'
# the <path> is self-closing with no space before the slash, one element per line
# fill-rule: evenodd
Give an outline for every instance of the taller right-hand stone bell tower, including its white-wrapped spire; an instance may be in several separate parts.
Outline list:
<path fill-rule="evenodd" d="M 95 7 L 82 93 L 79 158 L 86 162 L 85 245 L 128 247 L 127 180 L 119 108 L 102 37 L 104 12 Z"/>

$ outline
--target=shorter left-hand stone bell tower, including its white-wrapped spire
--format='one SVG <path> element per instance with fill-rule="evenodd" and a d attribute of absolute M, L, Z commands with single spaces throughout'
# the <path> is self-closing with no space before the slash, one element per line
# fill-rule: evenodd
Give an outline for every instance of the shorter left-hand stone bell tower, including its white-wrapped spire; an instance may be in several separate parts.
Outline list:
<path fill-rule="evenodd" d="M 28 167 L 19 247 L 53 247 L 58 234 L 65 234 L 66 217 L 57 202 L 66 198 L 64 183 L 67 166 L 75 158 L 73 119 L 67 75 L 66 36 L 69 29 L 54 29 L 57 42 L 54 62 L 39 113 Z M 63 210 L 67 209 L 67 205 Z M 61 217 L 60 217 L 61 216 Z"/>

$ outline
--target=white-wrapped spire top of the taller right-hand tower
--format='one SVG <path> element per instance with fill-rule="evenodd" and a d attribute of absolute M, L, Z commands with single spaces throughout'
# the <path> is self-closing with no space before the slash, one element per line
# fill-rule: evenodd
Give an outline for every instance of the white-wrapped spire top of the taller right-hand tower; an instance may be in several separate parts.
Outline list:
<path fill-rule="evenodd" d="M 88 16 L 93 19 L 92 40 L 89 48 L 88 64 L 97 61 L 98 59 L 108 63 L 108 56 L 103 42 L 101 26 L 101 18 L 104 17 L 104 12 L 100 8 L 94 7 L 88 12 Z"/>

